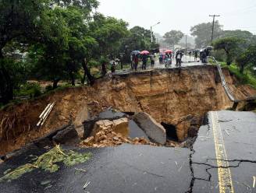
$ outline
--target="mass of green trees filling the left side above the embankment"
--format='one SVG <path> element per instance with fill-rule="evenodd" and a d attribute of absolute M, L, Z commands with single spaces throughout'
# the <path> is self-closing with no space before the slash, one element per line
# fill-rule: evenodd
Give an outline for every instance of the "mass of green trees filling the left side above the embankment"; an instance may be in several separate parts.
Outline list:
<path fill-rule="evenodd" d="M 94 83 L 91 68 L 119 58 L 124 65 L 133 50 L 158 47 L 151 32 L 94 10 L 97 0 L 0 1 L 0 104 L 16 96 L 37 96 L 27 80 L 75 79 Z M 10 19 L 12 18 L 12 19 Z M 99 73 L 96 74 L 96 78 Z M 26 89 L 27 88 L 27 89 Z"/>

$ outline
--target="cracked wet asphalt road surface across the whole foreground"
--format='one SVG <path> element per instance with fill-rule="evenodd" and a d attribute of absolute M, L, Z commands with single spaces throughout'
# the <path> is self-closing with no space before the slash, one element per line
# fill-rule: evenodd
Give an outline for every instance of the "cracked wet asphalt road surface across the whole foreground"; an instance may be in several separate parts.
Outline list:
<path fill-rule="evenodd" d="M 256 114 L 218 111 L 210 112 L 208 120 L 190 149 L 127 144 L 102 149 L 66 146 L 91 152 L 93 157 L 75 167 L 60 164 L 60 170 L 52 174 L 34 170 L 0 183 L 1 192 L 256 192 Z M 31 146 L 0 164 L 0 177 L 5 170 L 30 161 L 31 154 L 44 152 Z M 85 172 L 77 173 L 76 169 Z M 42 183 L 45 181 L 48 184 Z"/>

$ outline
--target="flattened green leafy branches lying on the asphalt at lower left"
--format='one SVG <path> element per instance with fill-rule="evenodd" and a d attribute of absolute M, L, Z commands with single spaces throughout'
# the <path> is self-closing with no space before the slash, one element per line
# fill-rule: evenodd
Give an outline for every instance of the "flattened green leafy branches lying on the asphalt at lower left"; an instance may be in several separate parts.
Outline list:
<path fill-rule="evenodd" d="M 6 170 L 5 176 L 0 178 L 2 181 L 12 181 L 23 174 L 29 173 L 35 169 L 41 169 L 48 172 L 56 172 L 59 170 L 59 166 L 56 163 L 63 162 L 66 167 L 72 167 L 73 165 L 84 163 L 91 158 L 91 153 L 75 153 L 71 150 L 64 151 L 60 146 L 55 146 L 47 153 L 36 157 L 34 163 L 27 163 L 23 166 L 17 167 L 15 170 Z"/>

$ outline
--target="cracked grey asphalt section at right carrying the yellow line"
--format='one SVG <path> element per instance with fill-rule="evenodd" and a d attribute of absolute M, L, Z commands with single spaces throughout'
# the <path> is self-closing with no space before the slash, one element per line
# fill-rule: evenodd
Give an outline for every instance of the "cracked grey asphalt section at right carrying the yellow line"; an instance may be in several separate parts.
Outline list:
<path fill-rule="evenodd" d="M 255 139 L 255 113 L 209 113 L 191 156 L 193 192 L 256 192 Z"/>

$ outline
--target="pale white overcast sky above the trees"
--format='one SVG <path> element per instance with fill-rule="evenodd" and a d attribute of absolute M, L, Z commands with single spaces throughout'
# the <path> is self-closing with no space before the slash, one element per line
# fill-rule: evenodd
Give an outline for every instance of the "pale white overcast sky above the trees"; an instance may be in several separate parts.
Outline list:
<path fill-rule="evenodd" d="M 98 11 L 106 16 L 124 19 L 133 26 L 150 26 L 164 34 L 181 30 L 190 34 L 190 26 L 212 22 L 209 14 L 221 15 L 218 20 L 224 30 L 249 30 L 256 34 L 255 0 L 99 0 Z"/>

